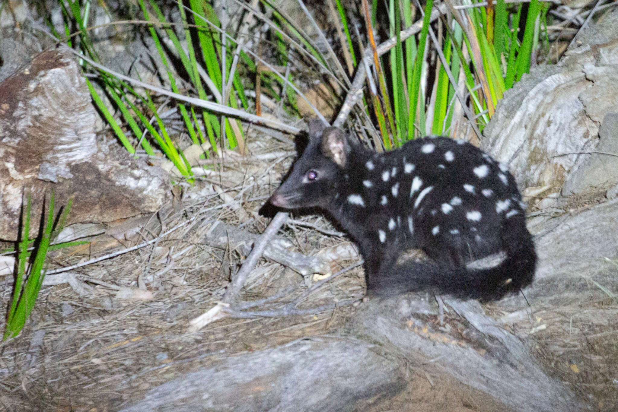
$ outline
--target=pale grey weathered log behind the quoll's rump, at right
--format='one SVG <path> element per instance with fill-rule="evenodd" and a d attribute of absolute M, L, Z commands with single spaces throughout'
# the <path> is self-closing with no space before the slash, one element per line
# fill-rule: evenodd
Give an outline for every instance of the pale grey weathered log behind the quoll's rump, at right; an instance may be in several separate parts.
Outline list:
<path fill-rule="evenodd" d="M 616 177 L 618 137 L 599 139 L 606 116 L 618 111 L 616 25 L 618 12 L 605 15 L 559 64 L 535 67 L 497 104 L 481 147 L 509 165 L 520 188 L 567 196 Z M 599 161 L 590 165 L 591 156 Z"/>

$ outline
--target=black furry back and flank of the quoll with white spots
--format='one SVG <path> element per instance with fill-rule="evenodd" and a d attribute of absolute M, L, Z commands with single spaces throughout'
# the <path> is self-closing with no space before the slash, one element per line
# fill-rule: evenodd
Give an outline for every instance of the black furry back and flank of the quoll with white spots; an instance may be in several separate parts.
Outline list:
<path fill-rule="evenodd" d="M 507 167 L 463 141 L 409 141 L 363 167 L 360 198 L 383 215 L 376 232 L 381 243 L 411 243 L 436 257 L 468 261 L 497 251 L 504 221 L 523 217 Z"/>

